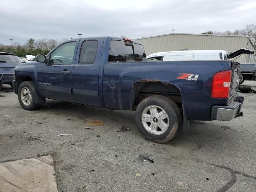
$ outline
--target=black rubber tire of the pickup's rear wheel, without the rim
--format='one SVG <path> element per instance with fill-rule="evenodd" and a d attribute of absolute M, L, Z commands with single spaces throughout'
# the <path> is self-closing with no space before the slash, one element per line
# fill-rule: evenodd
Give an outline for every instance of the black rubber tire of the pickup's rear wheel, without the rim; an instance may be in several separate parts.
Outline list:
<path fill-rule="evenodd" d="M 164 109 L 169 118 L 169 126 L 162 134 L 152 134 L 144 128 L 142 123 L 142 113 L 148 106 L 159 106 Z M 152 117 L 152 116 L 151 116 Z M 147 140 L 156 143 L 165 143 L 176 136 L 179 128 L 182 126 L 182 114 L 177 104 L 170 98 L 162 95 L 150 96 L 142 100 L 135 112 L 135 121 L 140 133 L 146 137 Z M 150 123 L 151 124 L 151 123 Z M 157 129 L 159 129 L 158 127 Z"/>

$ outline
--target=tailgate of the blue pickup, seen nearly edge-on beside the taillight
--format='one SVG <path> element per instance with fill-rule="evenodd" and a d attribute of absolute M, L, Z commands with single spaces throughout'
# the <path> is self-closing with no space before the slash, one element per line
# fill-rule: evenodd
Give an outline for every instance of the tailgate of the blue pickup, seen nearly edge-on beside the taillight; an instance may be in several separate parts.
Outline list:
<path fill-rule="evenodd" d="M 239 86 L 239 77 L 241 74 L 240 64 L 238 62 L 231 61 L 232 64 L 232 84 L 230 88 L 230 100 L 233 100 L 236 97 Z"/>

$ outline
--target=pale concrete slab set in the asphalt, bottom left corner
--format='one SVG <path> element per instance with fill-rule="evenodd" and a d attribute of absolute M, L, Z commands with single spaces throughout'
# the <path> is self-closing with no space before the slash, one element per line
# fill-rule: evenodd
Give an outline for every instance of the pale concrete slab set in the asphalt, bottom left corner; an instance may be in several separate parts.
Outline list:
<path fill-rule="evenodd" d="M 0 192 L 58 192 L 52 156 L 0 164 Z"/>

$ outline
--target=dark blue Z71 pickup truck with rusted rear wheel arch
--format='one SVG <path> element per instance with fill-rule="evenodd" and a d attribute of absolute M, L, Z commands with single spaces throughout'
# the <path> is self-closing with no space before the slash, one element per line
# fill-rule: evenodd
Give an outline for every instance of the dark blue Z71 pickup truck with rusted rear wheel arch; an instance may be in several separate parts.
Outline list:
<path fill-rule="evenodd" d="M 128 38 L 72 39 L 37 62 L 18 65 L 13 87 L 20 105 L 45 99 L 134 110 L 138 130 L 167 142 L 191 120 L 242 116 L 239 64 L 232 60 L 146 62 L 142 44 Z"/>

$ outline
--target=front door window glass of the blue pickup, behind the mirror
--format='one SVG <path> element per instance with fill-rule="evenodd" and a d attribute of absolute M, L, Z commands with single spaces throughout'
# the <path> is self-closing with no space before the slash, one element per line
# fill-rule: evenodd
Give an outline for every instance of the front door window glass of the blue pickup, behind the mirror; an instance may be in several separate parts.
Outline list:
<path fill-rule="evenodd" d="M 72 64 L 76 42 L 69 42 L 59 46 L 50 56 L 50 64 Z"/>

